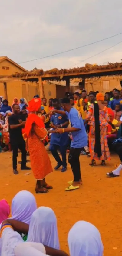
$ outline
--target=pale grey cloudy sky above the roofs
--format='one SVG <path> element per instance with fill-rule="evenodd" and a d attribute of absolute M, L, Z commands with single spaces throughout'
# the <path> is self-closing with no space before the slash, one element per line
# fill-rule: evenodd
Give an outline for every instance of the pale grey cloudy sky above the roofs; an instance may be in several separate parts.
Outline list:
<path fill-rule="evenodd" d="M 57 56 L 122 32 L 122 0 L 4 0 L 0 1 L 0 56 L 24 68 L 81 67 L 85 63 L 120 62 L 122 34 Z M 96 55 L 92 58 L 89 58 Z"/>

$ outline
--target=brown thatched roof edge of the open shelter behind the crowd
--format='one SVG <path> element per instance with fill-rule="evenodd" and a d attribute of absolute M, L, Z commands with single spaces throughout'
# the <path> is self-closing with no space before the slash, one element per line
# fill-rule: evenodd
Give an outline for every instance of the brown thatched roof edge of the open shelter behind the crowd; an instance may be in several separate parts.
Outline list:
<path fill-rule="evenodd" d="M 65 80 L 68 78 L 79 78 L 79 77 L 99 77 L 106 75 L 120 75 L 122 74 L 122 62 L 121 63 L 107 63 L 107 65 L 91 65 L 86 64 L 84 67 L 60 69 L 57 68 L 44 71 L 43 69 L 33 69 L 31 71 L 25 71 L 24 73 L 15 73 L 11 77 L 27 79 L 29 77 L 41 76 L 43 80 Z"/>

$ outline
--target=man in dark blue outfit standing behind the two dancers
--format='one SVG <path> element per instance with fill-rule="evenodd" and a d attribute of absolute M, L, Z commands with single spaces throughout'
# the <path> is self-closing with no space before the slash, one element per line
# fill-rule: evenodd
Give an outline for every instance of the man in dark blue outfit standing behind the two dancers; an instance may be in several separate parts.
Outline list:
<path fill-rule="evenodd" d="M 60 107 L 60 102 L 58 99 L 53 99 L 53 107 L 54 110 L 63 110 L 63 108 Z M 65 115 L 61 115 L 58 113 L 53 113 L 51 116 L 51 126 L 54 129 L 57 128 L 67 128 L 69 124 L 68 117 Z M 63 134 L 59 133 L 52 133 L 51 134 L 51 141 L 50 141 L 50 147 L 49 150 L 51 151 L 53 157 L 57 161 L 57 165 L 54 168 L 55 170 L 58 170 L 60 166 L 62 165 L 61 172 L 66 171 L 67 169 L 67 163 L 66 163 L 66 150 L 68 145 L 68 133 L 64 132 Z M 57 149 L 59 147 L 59 150 L 61 152 L 62 160 L 58 155 Z"/>

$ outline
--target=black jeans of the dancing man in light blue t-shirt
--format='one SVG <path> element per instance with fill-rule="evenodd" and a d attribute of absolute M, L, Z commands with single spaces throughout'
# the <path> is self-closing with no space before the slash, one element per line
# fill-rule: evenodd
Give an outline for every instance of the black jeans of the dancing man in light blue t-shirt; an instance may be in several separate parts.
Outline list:
<path fill-rule="evenodd" d="M 81 180 L 81 170 L 79 156 L 82 148 L 71 148 L 68 155 L 68 162 L 71 165 L 71 169 L 74 175 L 74 181 Z"/>

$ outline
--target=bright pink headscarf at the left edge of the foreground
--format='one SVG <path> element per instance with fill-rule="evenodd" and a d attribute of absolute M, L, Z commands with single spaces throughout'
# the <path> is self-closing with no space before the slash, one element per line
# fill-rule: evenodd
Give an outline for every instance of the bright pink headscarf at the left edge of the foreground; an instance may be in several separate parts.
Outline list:
<path fill-rule="evenodd" d="M 10 206 L 5 199 L 0 201 L 0 224 L 5 220 L 8 219 L 10 214 Z"/>

